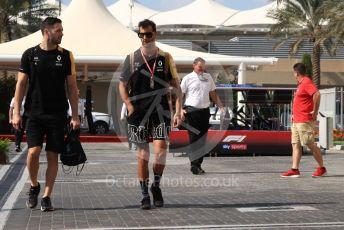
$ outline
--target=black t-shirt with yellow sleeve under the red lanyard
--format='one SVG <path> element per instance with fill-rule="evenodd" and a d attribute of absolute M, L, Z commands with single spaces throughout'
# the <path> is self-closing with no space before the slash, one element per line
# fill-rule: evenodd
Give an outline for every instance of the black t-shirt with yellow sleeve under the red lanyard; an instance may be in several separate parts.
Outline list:
<path fill-rule="evenodd" d="M 131 57 L 131 55 L 133 56 Z M 128 55 L 124 61 L 120 80 L 127 83 L 133 106 L 148 110 L 152 104 L 158 103 L 164 109 L 169 109 L 166 94 L 169 82 L 178 78 L 172 56 L 159 49 L 157 58 L 155 55 L 150 58 L 146 57 L 150 68 L 153 68 L 154 62 L 156 62 L 155 70 L 153 70 L 154 88 L 151 88 L 151 73 L 142 58 L 140 49 L 131 55 Z"/>

